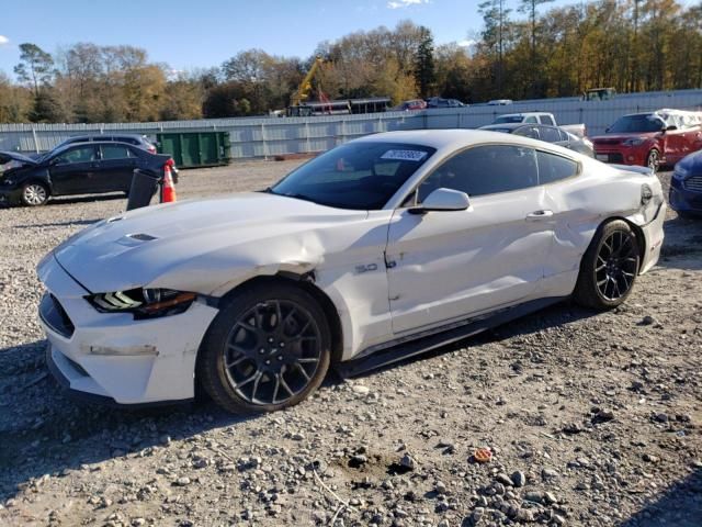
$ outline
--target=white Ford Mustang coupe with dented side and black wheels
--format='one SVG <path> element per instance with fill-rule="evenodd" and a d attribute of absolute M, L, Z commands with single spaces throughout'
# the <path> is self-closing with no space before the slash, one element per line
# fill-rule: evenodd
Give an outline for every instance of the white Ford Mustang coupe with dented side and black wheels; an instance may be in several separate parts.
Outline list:
<path fill-rule="evenodd" d="M 38 266 L 48 365 L 117 404 L 308 396 L 565 298 L 609 309 L 654 266 L 646 169 L 483 131 L 341 145 L 261 192 L 128 212 Z"/>

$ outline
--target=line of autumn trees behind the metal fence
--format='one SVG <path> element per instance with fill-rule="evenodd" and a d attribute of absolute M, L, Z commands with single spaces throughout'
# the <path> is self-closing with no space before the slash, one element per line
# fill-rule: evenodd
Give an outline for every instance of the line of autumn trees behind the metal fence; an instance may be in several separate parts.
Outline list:
<path fill-rule="evenodd" d="M 435 45 L 410 21 L 321 42 L 304 59 L 262 49 L 218 67 L 173 72 L 145 49 L 78 43 L 49 54 L 20 45 L 16 81 L 0 72 L 0 122 L 139 122 L 265 114 L 284 109 L 315 58 L 313 98 L 440 96 L 467 103 L 702 87 L 702 4 L 485 0 L 474 43 Z"/>

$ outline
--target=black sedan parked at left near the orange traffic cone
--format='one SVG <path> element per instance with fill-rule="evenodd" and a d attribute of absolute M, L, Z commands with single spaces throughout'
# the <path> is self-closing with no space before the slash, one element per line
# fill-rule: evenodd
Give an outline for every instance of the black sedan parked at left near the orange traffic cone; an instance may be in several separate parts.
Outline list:
<path fill-rule="evenodd" d="M 56 195 L 126 193 L 134 169 L 159 172 L 169 159 L 114 142 L 69 144 L 37 159 L 0 152 L 0 202 L 38 206 Z"/>

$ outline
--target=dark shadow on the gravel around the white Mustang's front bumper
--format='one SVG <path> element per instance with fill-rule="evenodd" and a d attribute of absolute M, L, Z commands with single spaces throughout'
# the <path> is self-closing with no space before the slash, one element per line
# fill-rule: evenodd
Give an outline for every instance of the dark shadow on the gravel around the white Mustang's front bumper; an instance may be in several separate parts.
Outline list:
<path fill-rule="evenodd" d="M 45 340 L 0 349 L 0 503 L 44 474 L 149 456 L 171 440 L 236 426 L 257 416 L 231 415 L 210 401 L 146 410 L 73 401 L 46 368 Z"/>

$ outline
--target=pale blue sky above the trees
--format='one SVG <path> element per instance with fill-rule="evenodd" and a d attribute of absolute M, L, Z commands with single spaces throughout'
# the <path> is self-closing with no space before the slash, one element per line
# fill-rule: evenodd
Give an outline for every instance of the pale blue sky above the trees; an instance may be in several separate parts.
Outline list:
<path fill-rule="evenodd" d="M 78 42 L 129 44 L 173 70 L 219 66 L 250 48 L 306 58 L 319 42 L 380 25 L 392 29 L 406 19 L 428 26 L 437 44 L 466 44 L 480 29 L 480 1 L 0 0 L 0 71 L 13 77 L 18 44 L 24 42 L 49 53 Z M 569 3 L 579 1 L 547 5 Z"/>

